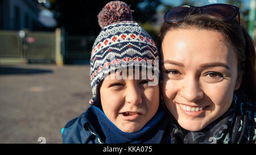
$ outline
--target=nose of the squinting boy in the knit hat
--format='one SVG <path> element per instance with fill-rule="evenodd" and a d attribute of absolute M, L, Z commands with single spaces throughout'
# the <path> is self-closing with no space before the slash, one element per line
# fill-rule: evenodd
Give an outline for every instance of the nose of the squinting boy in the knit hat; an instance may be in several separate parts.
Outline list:
<path fill-rule="evenodd" d="M 126 103 L 131 104 L 140 104 L 142 103 L 142 92 L 136 86 L 129 86 L 126 89 L 126 96 L 125 96 Z"/>

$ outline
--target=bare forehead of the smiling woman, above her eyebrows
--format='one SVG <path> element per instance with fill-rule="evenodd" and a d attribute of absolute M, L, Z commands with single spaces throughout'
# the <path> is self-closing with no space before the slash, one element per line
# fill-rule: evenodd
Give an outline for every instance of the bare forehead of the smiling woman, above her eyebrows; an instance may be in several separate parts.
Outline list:
<path fill-rule="evenodd" d="M 166 60 L 186 64 L 208 64 L 220 62 L 231 65 L 236 60 L 233 48 L 226 45 L 220 32 L 195 29 L 172 30 L 166 34 L 162 43 L 161 61 Z M 188 65 L 188 63 L 187 63 Z"/>

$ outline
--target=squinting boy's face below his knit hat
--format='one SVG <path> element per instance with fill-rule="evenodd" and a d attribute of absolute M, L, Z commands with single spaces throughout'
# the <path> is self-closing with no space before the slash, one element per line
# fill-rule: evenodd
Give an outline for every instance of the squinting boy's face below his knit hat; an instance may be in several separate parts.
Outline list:
<path fill-rule="evenodd" d="M 109 78 L 110 76 L 114 79 Z M 128 74 L 127 74 L 128 75 Z M 148 85 L 154 79 L 117 78 L 117 72 L 105 77 L 100 86 L 102 109 L 108 119 L 123 132 L 137 132 L 155 115 L 159 106 L 159 86 Z"/>

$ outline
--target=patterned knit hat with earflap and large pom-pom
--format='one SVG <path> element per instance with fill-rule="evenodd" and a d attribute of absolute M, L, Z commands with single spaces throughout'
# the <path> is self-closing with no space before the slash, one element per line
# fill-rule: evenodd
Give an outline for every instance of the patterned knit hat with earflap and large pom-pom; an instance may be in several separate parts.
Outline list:
<path fill-rule="evenodd" d="M 90 104 L 99 98 L 98 89 L 103 79 L 117 69 L 143 66 L 159 73 L 158 49 L 151 36 L 131 21 L 131 12 L 125 2 L 112 1 L 98 14 L 102 30 L 94 41 L 90 57 Z"/>

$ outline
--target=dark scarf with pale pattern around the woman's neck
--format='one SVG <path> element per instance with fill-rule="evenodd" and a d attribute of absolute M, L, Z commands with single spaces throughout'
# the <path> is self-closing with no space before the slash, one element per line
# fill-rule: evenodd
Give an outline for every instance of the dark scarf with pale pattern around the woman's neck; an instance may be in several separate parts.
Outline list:
<path fill-rule="evenodd" d="M 210 123 L 201 131 L 192 132 L 180 127 L 171 116 L 171 143 L 218 143 L 241 144 L 255 143 L 256 139 L 256 103 L 245 96 L 234 93 L 233 101 L 224 115 Z"/>

